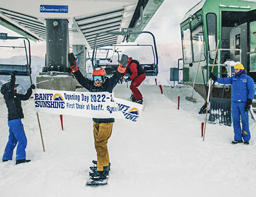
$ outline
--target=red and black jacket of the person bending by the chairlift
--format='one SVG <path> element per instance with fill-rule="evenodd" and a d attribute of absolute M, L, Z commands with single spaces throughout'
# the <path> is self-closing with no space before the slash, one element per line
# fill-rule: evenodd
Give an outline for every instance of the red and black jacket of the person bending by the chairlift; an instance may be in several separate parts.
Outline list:
<path fill-rule="evenodd" d="M 131 57 L 129 57 L 125 74 L 130 74 L 129 78 L 131 79 L 131 81 L 133 81 L 133 79 L 135 79 L 138 75 L 144 73 L 145 72 L 140 67 L 140 63 L 137 60 L 133 60 Z"/>

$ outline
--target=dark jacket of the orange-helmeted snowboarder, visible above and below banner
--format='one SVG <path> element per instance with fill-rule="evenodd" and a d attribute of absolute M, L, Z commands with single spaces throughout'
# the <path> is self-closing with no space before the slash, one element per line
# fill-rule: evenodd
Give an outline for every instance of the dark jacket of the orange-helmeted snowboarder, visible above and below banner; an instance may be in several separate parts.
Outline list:
<path fill-rule="evenodd" d="M 109 92 L 112 93 L 113 88 L 118 84 L 120 78 L 122 78 L 123 73 L 118 71 L 115 72 L 111 76 L 111 78 L 105 77 L 104 83 L 102 86 L 98 87 L 94 85 L 94 81 L 84 77 L 80 70 L 77 72 L 73 72 L 76 80 L 83 86 L 85 89 L 89 90 L 89 92 Z M 94 122 L 97 123 L 108 123 L 108 122 L 115 122 L 114 118 L 93 118 Z"/>

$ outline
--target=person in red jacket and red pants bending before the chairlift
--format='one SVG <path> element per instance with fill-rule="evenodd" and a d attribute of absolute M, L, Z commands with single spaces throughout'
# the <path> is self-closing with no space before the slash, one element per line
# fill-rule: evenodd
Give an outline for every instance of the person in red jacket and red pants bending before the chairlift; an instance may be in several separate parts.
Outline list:
<path fill-rule="evenodd" d="M 119 61 L 119 63 L 126 67 L 125 74 L 130 75 L 125 79 L 125 81 L 131 81 L 131 101 L 142 104 L 143 97 L 140 93 L 140 90 L 138 90 L 138 86 L 140 86 L 140 84 L 144 81 L 146 74 L 140 67 L 140 63 L 137 60 L 133 60 L 131 57 L 128 58 L 126 54 L 122 55 L 121 61 Z"/>

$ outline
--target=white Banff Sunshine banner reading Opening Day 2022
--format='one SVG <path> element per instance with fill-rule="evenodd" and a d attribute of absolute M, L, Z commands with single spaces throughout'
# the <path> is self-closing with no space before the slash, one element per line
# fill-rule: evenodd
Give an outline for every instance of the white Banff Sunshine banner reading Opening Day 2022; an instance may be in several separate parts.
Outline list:
<path fill-rule="evenodd" d="M 88 118 L 118 118 L 136 122 L 143 105 L 120 98 L 109 92 L 71 92 L 35 89 L 37 112 L 74 115 Z"/>

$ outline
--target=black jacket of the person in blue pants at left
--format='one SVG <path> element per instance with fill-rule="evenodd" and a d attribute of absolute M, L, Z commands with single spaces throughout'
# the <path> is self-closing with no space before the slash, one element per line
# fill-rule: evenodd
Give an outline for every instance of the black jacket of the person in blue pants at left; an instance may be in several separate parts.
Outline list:
<path fill-rule="evenodd" d="M 26 94 L 16 93 L 14 87 L 15 78 L 10 79 L 9 87 L 6 87 L 6 83 L 1 87 L 1 93 L 3 94 L 6 107 L 8 108 L 8 121 L 24 118 L 22 101 L 28 100 L 32 94 L 32 89 L 30 87 L 27 89 Z"/>

